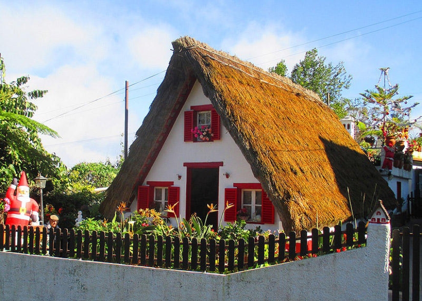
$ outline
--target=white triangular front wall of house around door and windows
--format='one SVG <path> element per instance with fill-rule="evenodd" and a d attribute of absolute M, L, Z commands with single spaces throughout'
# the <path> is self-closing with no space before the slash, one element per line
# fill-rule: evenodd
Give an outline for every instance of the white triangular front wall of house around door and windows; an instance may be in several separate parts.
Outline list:
<path fill-rule="evenodd" d="M 201 84 L 196 81 L 143 184 L 146 185 L 147 181 L 174 182 L 174 186 L 180 187 L 181 206 L 179 213 L 182 217 L 186 217 L 187 168 L 183 166 L 183 163 L 223 162 L 224 165 L 219 168 L 218 200 L 215 200 L 215 203 L 218 201 L 218 218 L 220 219 L 221 212 L 225 207 L 225 188 L 232 188 L 233 183 L 259 182 L 252 174 L 249 163 L 223 125 L 221 125 L 220 140 L 198 143 L 184 142 L 184 112 L 190 111 L 191 105 L 206 104 L 211 104 L 211 101 L 204 95 Z M 225 173 L 228 173 L 230 177 L 226 178 Z M 177 175 L 182 176 L 180 180 Z M 130 209 L 132 211 L 137 209 L 136 201 L 132 202 Z M 248 224 L 247 228 L 255 228 L 256 226 L 257 224 Z M 279 228 L 282 229 L 282 225 L 276 212 L 274 224 L 261 225 L 262 230 L 275 231 Z"/>

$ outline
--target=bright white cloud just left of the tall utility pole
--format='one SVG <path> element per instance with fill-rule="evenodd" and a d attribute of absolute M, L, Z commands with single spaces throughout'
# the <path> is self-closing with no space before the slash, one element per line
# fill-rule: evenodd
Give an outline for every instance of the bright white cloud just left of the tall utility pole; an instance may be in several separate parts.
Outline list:
<path fill-rule="evenodd" d="M 36 101 L 38 110 L 34 119 L 61 137 L 42 137 L 49 152 L 74 165 L 81 160 L 104 160 L 110 143 L 119 149 L 119 135 L 124 131 L 124 94 L 92 102 L 112 91 L 111 80 L 100 76 L 94 65 L 63 66 L 47 78 L 31 78 L 30 83 L 32 89 L 48 85 L 49 92 Z M 86 105 L 72 111 L 83 104 Z M 66 114 L 59 116 L 62 113 Z M 108 138 L 92 140 L 99 137 Z M 84 140 L 90 141 L 70 143 Z"/>

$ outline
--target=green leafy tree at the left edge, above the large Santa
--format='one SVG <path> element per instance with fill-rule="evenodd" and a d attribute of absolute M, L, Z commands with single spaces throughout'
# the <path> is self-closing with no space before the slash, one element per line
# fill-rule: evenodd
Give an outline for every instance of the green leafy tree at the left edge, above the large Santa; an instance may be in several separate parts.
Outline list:
<path fill-rule="evenodd" d="M 37 106 L 32 102 L 47 90 L 25 91 L 29 76 L 6 82 L 6 67 L 0 56 L 0 189 L 5 191 L 13 177 L 25 170 L 29 180 L 42 173 L 59 177 L 66 168 L 60 158 L 42 146 L 39 134 L 58 137 L 42 123 L 31 119 Z"/>

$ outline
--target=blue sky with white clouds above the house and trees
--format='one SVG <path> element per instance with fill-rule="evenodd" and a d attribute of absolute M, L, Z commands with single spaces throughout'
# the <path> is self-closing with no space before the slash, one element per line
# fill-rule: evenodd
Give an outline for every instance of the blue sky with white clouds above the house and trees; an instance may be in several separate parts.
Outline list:
<path fill-rule="evenodd" d="M 284 59 L 290 72 L 317 48 L 326 62 L 344 62 L 353 80 L 343 96 L 351 99 L 390 67 L 401 95 L 422 102 L 416 1 L 0 0 L 0 12 L 6 79 L 29 75 L 29 89 L 49 90 L 34 118 L 59 133 L 42 141 L 68 167 L 116 160 L 125 80 L 131 141 L 163 80 L 171 41 L 185 35 L 265 70 Z M 413 115 L 422 115 L 422 104 Z"/>

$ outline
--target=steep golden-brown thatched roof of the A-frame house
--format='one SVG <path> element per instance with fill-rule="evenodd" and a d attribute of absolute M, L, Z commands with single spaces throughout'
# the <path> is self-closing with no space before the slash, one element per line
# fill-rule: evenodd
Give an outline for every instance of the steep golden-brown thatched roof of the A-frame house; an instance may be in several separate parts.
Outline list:
<path fill-rule="evenodd" d="M 106 191 L 100 207 L 105 216 L 113 216 L 120 201 L 135 197 L 196 80 L 273 202 L 284 229 L 309 229 L 316 225 L 317 214 L 319 225 L 349 218 L 348 195 L 355 216 L 369 213 L 372 199 L 394 206 L 387 182 L 315 93 L 190 37 L 172 45 L 157 96 Z"/>

